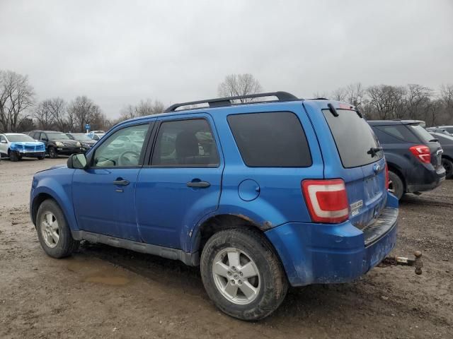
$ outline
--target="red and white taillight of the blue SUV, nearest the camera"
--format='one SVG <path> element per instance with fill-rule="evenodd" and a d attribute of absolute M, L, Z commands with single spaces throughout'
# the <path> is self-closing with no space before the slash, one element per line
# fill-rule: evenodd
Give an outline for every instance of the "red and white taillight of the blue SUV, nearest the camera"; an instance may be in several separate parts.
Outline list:
<path fill-rule="evenodd" d="M 348 220 L 348 195 L 342 179 L 303 180 L 301 186 L 313 222 L 338 224 Z"/>

